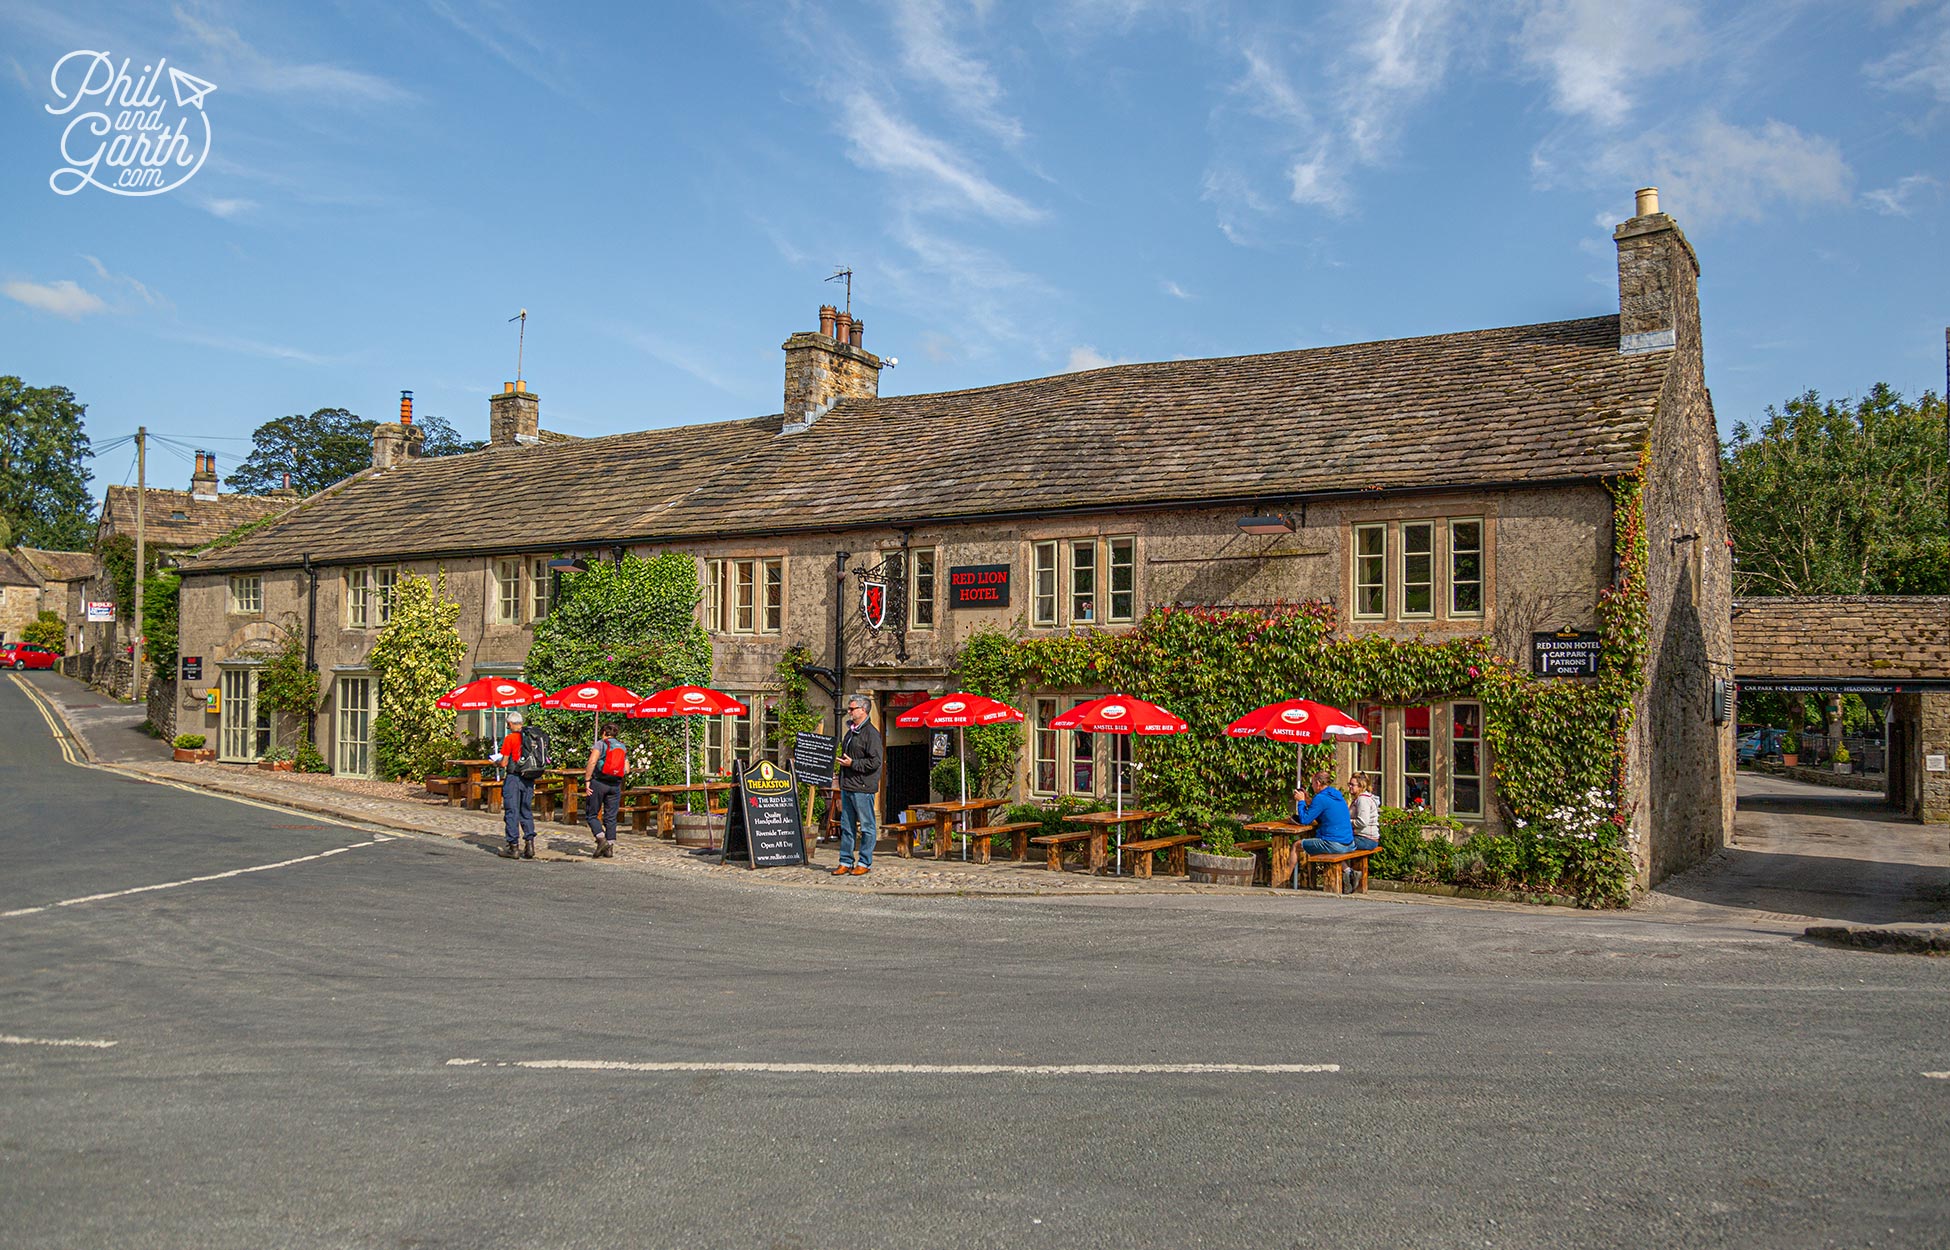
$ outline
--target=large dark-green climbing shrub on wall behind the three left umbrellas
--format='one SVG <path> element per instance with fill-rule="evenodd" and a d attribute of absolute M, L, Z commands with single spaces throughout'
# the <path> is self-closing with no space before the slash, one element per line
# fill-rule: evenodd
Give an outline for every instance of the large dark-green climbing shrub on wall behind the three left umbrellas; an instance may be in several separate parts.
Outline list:
<path fill-rule="evenodd" d="M 579 681 L 610 681 L 638 694 L 651 694 L 667 686 L 708 683 L 712 644 L 696 622 L 700 599 L 696 560 L 673 552 L 649 560 L 624 556 L 620 564 L 593 564 L 585 573 L 564 573 L 556 606 L 534 624 L 534 644 L 523 675 L 544 690 Z M 548 731 L 558 761 L 583 762 L 583 753 L 595 741 L 595 718 L 589 712 L 532 710 L 530 716 L 532 723 Z M 603 731 L 630 747 L 632 776 L 651 784 L 679 782 L 684 776 L 681 722 L 682 718 L 604 716 Z M 702 743 L 702 731 L 694 731 L 692 751 Z"/>

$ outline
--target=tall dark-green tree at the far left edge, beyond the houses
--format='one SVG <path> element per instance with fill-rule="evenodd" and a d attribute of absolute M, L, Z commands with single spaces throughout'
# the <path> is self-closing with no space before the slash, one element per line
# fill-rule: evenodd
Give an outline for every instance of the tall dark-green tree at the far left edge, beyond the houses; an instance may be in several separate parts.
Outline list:
<path fill-rule="evenodd" d="M 88 548 L 86 404 L 66 386 L 0 376 L 0 521 L 8 540 L 60 552 Z"/>

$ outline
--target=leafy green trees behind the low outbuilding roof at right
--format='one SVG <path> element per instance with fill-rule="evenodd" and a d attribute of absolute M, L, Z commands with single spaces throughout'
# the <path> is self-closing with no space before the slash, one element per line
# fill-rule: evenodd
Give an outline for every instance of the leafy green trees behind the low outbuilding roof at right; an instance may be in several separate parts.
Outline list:
<path fill-rule="evenodd" d="M 1950 593 L 1944 402 L 1878 382 L 1769 406 L 1720 449 L 1741 595 Z"/>

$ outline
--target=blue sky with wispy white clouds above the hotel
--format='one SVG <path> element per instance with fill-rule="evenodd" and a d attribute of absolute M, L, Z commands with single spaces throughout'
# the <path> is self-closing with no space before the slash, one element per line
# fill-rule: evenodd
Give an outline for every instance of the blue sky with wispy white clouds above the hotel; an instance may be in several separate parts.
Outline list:
<path fill-rule="evenodd" d="M 51 189 L 78 49 L 216 86 L 189 181 Z M 1644 183 L 1722 429 L 1944 386 L 1946 0 L 0 0 L 0 372 L 226 470 L 486 437 L 519 308 L 544 427 L 778 411 L 838 265 L 883 394 L 1615 312 Z"/>

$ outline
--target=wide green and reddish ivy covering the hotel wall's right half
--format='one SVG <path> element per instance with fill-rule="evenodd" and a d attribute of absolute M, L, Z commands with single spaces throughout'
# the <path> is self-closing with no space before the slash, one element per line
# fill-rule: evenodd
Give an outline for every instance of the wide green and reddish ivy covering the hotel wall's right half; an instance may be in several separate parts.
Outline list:
<path fill-rule="evenodd" d="M 1591 683 L 1531 677 L 1484 638 L 1416 642 L 1336 636 L 1328 603 L 1271 608 L 1156 608 L 1135 628 L 1020 638 L 975 634 L 957 659 L 959 684 L 1020 700 L 1032 686 L 1110 686 L 1186 718 L 1190 733 L 1139 747 L 1139 800 L 1178 813 L 1283 807 L 1291 747 L 1232 739 L 1225 725 L 1268 702 L 1306 696 L 1336 706 L 1476 700 L 1492 751 L 1496 796 L 1513 840 L 1546 864 L 1544 889 L 1591 905 L 1620 905 L 1632 881 L 1624 751 L 1646 663 L 1646 538 L 1636 480 L 1613 491 L 1618 579 L 1599 601 L 1603 649 Z M 1022 729 L 969 731 L 983 770 L 1012 770 Z M 1308 768 L 1330 759 L 1310 749 Z M 1593 794 L 1601 819 L 1593 821 Z M 1609 815 L 1603 815 L 1609 813 Z"/>

